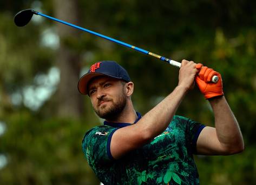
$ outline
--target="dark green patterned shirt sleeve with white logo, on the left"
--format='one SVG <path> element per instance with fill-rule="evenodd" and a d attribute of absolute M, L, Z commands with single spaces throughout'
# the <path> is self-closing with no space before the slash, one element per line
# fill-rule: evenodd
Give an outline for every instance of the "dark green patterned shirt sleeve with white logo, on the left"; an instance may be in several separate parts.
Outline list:
<path fill-rule="evenodd" d="M 106 164 L 113 160 L 110 153 L 111 137 L 117 128 L 100 126 L 87 131 L 82 141 L 83 153 L 90 166 Z"/>

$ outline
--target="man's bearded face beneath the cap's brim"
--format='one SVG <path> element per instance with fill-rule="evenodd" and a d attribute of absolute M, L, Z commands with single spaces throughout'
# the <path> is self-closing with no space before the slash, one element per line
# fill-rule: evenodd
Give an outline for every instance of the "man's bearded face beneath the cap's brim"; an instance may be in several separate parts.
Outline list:
<path fill-rule="evenodd" d="M 115 78 L 93 79 L 88 85 L 88 95 L 95 113 L 106 120 L 114 120 L 126 107 L 125 84 Z"/>

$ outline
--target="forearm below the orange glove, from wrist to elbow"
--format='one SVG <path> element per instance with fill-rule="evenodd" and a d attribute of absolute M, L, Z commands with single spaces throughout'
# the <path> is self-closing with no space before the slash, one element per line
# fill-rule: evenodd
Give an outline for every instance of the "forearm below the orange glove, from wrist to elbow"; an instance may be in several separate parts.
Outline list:
<path fill-rule="evenodd" d="M 244 141 L 239 124 L 225 97 L 215 97 L 209 102 L 214 112 L 216 135 L 222 147 L 232 153 L 244 149 Z"/>

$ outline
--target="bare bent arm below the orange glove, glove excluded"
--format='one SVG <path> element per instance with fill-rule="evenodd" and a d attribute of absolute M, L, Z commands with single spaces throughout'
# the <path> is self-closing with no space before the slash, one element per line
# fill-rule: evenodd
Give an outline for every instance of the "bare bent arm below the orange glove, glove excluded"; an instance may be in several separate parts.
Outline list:
<path fill-rule="evenodd" d="M 244 141 L 238 125 L 224 96 L 209 100 L 211 103 L 215 128 L 205 127 L 196 143 L 198 154 L 230 155 L 244 150 Z"/>

